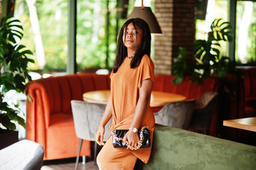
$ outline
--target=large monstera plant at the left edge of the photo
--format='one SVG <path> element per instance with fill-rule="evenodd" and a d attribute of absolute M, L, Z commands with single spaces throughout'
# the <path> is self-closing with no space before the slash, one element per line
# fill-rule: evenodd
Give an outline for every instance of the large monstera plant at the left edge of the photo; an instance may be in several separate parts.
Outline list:
<path fill-rule="evenodd" d="M 4 101 L 6 93 L 10 90 L 23 93 L 26 83 L 31 80 L 28 75 L 28 63 L 34 60 L 27 55 L 33 55 L 25 45 L 19 42 L 23 38 L 21 21 L 11 16 L 1 19 L 0 26 L 0 123 L 6 129 L 15 130 L 16 124 L 25 128 L 25 121 L 18 113 L 18 106 Z"/>

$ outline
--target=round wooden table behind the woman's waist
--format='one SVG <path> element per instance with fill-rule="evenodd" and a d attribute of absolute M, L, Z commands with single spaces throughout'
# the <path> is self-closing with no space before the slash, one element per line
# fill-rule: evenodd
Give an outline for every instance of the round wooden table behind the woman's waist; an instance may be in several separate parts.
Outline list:
<path fill-rule="evenodd" d="M 89 91 L 83 94 L 83 100 L 91 103 L 106 103 L 110 96 L 109 90 Z M 150 98 L 151 107 L 165 106 L 165 104 L 174 101 L 184 101 L 185 96 L 179 94 L 170 94 L 162 91 L 152 91 Z"/>

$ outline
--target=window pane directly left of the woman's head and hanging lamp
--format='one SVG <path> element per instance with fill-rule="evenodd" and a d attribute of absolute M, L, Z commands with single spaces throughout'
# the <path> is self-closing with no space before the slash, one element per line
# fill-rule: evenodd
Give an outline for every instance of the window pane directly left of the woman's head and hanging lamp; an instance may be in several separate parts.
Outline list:
<path fill-rule="evenodd" d="M 113 67 L 118 33 L 133 5 L 133 0 L 77 1 L 78 72 Z"/>

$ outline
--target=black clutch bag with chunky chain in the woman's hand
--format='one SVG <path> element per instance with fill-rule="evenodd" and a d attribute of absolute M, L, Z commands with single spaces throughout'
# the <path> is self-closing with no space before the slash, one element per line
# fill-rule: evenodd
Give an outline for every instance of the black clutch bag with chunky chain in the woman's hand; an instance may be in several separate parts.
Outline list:
<path fill-rule="evenodd" d="M 150 129 L 148 126 L 144 126 L 141 130 L 138 130 L 138 137 L 140 139 L 140 145 L 137 147 L 131 147 L 128 142 L 123 142 L 123 137 L 126 135 L 128 130 L 111 130 L 113 136 L 113 147 L 127 147 L 129 149 L 139 149 L 144 147 L 150 147 Z"/>

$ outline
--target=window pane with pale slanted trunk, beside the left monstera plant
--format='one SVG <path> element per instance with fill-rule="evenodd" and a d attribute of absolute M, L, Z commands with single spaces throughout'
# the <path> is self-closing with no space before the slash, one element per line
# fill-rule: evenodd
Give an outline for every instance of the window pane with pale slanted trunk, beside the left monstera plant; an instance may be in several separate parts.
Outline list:
<path fill-rule="evenodd" d="M 34 53 L 35 64 L 30 69 L 40 73 L 65 72 L 67 6 L 67 0 L 16 0 L 14 16 L 23 23 L 23 44 Z"/>

